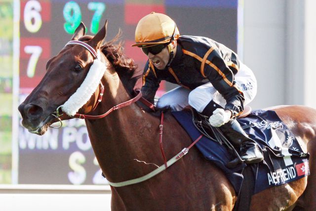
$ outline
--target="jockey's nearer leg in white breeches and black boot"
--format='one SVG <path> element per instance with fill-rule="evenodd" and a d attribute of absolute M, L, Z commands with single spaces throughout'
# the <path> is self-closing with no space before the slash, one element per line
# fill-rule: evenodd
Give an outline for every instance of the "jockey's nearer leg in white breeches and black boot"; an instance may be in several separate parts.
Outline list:
<path fill-rule="evenodd" d="M 241 64 L 235 81 L 240 89 L 243 90 L 244 105 L 248 104 L 257 93 L 257 82 L 252 71 L 247 66 Z M 210 117 L 216 108 L 225 107 L 226 100 L 212 84 L 207 83 L 191 91 L 189 104 L 198 112 Z M 263 160 L 263 155 L 258 145 L 247 136 L 237 120 L 231 120 L 219 128 L 227 135 L 235 147 L 240 148 L 240 157 L 245 160 L 245 163 L 258 163 Z"/>

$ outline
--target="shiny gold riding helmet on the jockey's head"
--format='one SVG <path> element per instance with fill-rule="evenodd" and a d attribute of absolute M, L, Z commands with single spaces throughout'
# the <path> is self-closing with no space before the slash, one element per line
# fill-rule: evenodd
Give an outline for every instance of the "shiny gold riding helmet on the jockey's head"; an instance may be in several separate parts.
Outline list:
<path fill-rule="evenodd" d="M 156 44 L 170 43 L 177 40 L 179 36 L 179 30 L 169 16 L 151 12 L 138 22 L 135 31 L 136 43 L 132 46 L 149 47 Z"/>

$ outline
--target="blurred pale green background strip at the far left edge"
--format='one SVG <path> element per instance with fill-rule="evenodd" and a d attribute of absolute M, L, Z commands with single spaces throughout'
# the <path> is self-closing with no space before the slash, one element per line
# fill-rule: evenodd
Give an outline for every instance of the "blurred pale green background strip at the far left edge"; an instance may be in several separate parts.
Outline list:
<path fill-rule="evenodd" d="M 0 183 L 11 183 L 13 0 L 0 0 Z"/>

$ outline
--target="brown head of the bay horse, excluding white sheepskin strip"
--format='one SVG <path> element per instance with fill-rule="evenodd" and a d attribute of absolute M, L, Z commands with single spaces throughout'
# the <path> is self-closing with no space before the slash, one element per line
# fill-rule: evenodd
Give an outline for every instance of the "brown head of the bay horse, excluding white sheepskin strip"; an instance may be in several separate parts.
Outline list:
<path fill-rule="evenodd" d="M 56 110 L 63 105 L 79 88 L 87 77 L 94 63 L 96 52 L 99 51 L 102 41 L 106 36 L 107 21 L 102 29 L 92 38 L 84 36 L 85 26 L 80 23 L 71 42 L 46 63 L 46 74 L 18 109 L 22 116 L 22 125 L 30 132 L 44 134 L 48 126 L 57 122 Z M 79 42 L 74 44 L 73 42 Z M 82 44 L 93 49 L 88 49 Z M 93 53 L 94 52 L 94 53 Z M 109 61 L 103 53 L 99 53 L 99 61 L 106 68 Z M 99 86 L 90 93 L 89 100 L 80 107 L 80 113 L 89 113 L 97 103 Z M 91 96 L 92 95 L 92 96 Z M 70 119 L 71 115 L 63 114 L 60 119 Z"/>

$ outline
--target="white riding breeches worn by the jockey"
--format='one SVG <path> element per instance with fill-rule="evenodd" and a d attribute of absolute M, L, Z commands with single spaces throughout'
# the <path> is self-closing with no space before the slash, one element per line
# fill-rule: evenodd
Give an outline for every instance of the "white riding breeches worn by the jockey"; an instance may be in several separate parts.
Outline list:
<path fill-rule="evenodd" d="M 250 103 L 257 94 L 257 80 L 250 68 L 240 63 L 239 71 L 235 75 L 235 82 L 243 92 L 244 105 Z M 202 112 L 211 100 L 223 108 L 226 105 L 224 97 L 209 82 L 193 90 L 182 86 L 174 88 L 158 99 L 157 107 L 170 106 L 173 111 L 181 111 L 186 106 L 191 105 L 198 112 Z"/>

